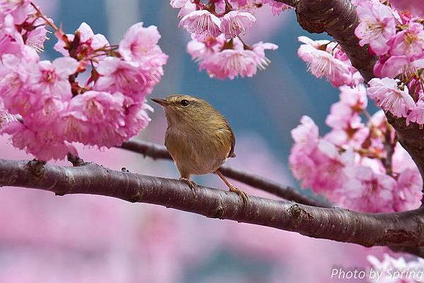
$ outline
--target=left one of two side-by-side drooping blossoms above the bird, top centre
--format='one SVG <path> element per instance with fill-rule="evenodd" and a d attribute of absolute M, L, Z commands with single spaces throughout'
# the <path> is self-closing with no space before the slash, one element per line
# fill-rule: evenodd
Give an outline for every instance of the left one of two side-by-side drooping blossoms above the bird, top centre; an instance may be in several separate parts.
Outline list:
<path fill-rule="evenodd" d="M 198 40 L 220 35 L 220 19 L 206 10 L 193 11 L 179 21 L 179 26 L 195 35 Z"/>

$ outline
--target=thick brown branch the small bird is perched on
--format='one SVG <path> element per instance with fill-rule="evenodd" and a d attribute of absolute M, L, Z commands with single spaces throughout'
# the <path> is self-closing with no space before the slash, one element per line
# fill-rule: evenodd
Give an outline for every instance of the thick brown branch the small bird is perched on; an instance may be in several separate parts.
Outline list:
<path fill-rule="evenodd" d="M 423 209 L 373 215 L 254 196 L 244 204 L 236 193 L 206 187 L 193 193 L 182 181 L 114 171 L 98 164 L 57 167 L 0 159 L 0 186 L 39 188 L 57 195 L 106 195 L 363 246 L 424 245 Z"/>

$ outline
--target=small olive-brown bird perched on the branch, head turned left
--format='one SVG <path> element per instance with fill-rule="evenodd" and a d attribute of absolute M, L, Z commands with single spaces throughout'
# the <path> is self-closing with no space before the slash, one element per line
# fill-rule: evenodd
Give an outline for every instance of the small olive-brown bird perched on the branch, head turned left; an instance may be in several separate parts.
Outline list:
<path fill-rule="evenodd" d="M 190 176 L 216 173 L 230 191 L 246 202 L 246 193 L 233 186 L 219 171 L 228 157 L 235 157 L 235 137 L 225 117 L 208 102 L 189 95 L 152 100 L 165 110 L 165 146 L 175 161 L 180 180 L 196 191 L 198 187 Z"/>

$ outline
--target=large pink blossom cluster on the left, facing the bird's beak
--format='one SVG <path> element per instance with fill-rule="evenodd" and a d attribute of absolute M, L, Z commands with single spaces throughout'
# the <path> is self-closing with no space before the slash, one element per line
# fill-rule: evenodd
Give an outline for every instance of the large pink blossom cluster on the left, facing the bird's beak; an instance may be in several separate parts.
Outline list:
<path fill-rule="evenodd" d="M 3 133 L 37 159 L 76 154 L 72 142 L 112 147 L 135 136 L 149 118 L 146 95 L 167 61 L 154 26 L 137 23 L 119 45 L 110 45 L 86 24 L 65 35 L 31 1 L 0 1 L 0 101 L 16 116 Z M 63 56 L 42 61 L 47 30 Z M 78 76 L 86 75 L 86 81 Z"/>

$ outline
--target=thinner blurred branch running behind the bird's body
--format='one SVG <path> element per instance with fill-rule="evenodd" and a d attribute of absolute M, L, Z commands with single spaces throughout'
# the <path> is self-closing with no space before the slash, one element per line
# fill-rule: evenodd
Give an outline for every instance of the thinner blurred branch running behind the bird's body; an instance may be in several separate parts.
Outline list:
<path fill-rule="evenodd" d="M 164 146 L 156 145 L 155 143 L 148 143 L 142 140 L 130 140 L 123 143 L 121 147 L 125 150 L 130 150 L 132 152 L 140 153 L 141 155 L 152 157 L 153 159 L 172 159 Z M 306 195 L 295 188 L 283 186 L 280 183 L 265 179 L 257 174 L 235 169 L 228 165 L 220 167 L 220 171 L 228 178 L 240 181 L 254 188 L 259 188 L 262 191 L 272 193 L 273 195 L 277 195 L 285 200 L 292 200 L 296 203 L 317 207 L 331 207 L 328 203 L 324 203 L 317 198 Z"/>

